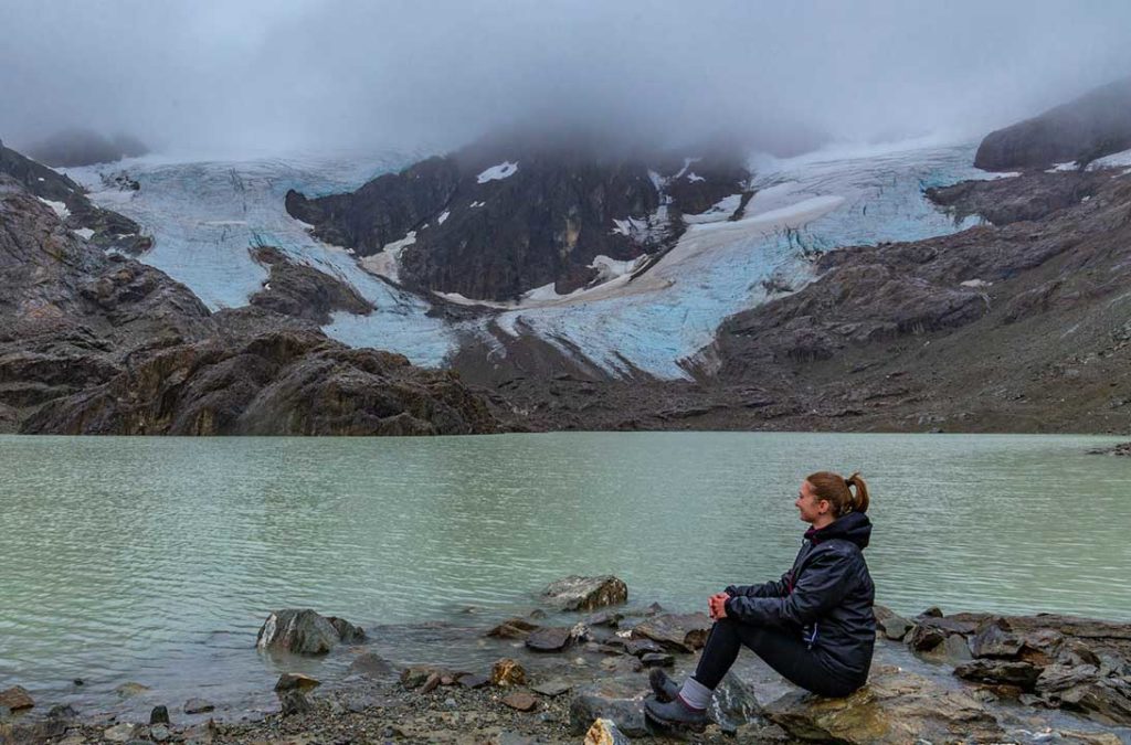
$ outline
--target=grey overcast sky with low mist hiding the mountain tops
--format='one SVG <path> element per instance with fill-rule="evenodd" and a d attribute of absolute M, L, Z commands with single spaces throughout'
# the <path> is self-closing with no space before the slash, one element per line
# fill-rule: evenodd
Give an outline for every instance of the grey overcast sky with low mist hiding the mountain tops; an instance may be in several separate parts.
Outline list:
<path fill-rule="evenodd" d="M 1131 2 L 0 0 L 0 138 L 451 147 L 500 123 L 977 138 L 1131 75 Z"/>

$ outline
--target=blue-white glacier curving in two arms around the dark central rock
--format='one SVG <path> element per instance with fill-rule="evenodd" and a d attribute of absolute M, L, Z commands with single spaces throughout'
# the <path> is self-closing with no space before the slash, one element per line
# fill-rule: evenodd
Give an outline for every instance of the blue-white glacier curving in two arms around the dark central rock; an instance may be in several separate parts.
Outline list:
<path fill-rule="evenodd" d="M 353 346 L 389 349 L 435 366 L 468 335 L 486 341 L 493 354 L 504 354 L 507 336 L 533 333 L 613 375 L 642 371 L 685 379 L 725 318 L 765 302 L 770 292 L 798 289 L 814 279 L 813 255 L 976 224 L 977 218 L 953 219 L 923 197 L 929 187 L 999 177 L 973 167 L 974 150 L 968 144 L 918 142 L 784 159 L 754 156 L 757 193 L 742 219 L 693 220 L 644 274 L 612 272 L 605 284 L 566 296 L 528 293 L 517 306 L 485 309 L 482 318 L 455 322 L 430 313 L 434 303 L 446 302 L 442 297 L 424 297 L 374 276 L 351 251 L 313 239 L 309 226 L 284 209 L 288 189 L 308 196 L 354 190 L 420 159 L 418 154 L 249 161 L 145 156 L 67 173 L 96 203 L 153 235 L 154 249 L 139 259 L 185 284 L 211 309 L 247 304 L 267 278 L 248 249 L 274 245 L 351 284 L 375 306 L 364 317 L 336 313 L 325 327 Z M 113 175 L 122 171 L 140 190 L 114 185 Z M 717 213 L 724 216 L 723 209 Z"/>

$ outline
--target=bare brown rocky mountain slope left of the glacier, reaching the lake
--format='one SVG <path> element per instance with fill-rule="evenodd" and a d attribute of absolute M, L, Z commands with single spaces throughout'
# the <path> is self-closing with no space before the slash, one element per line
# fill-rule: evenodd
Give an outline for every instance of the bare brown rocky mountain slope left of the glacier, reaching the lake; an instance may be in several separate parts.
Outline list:
<path fill-rule="evenodd" d="M 20 181 L 0 174 L 0 431 L 495 430 L 454 374 L 327 338 L 304 318 L 355 298 L 328 276 L 286 267 L 269 251 L 262 257 L 279 289 L 267 283 L 252 306 L 210 313 L 157 269 L 107 255 Z M 311 297 L 300 297 L 311 288 Z"/>

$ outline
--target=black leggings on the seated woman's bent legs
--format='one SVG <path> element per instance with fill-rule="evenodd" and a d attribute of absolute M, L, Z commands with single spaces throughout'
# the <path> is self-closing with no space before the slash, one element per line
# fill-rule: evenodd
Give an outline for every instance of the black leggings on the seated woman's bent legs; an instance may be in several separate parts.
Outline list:
<path fill-rule="evenodd" d="M 720 618 L 711 627 L 696 668 L 696 681 L 715 690 L 734 665 L 743 644 L 784 678 L 806 691 L 839 698 L 860 687 L 858 683 L 845 681 L 830 669 L 823 653 L 809 649 L 800 632 L 754 626 L 732 618 Z"/>

